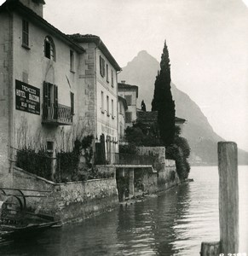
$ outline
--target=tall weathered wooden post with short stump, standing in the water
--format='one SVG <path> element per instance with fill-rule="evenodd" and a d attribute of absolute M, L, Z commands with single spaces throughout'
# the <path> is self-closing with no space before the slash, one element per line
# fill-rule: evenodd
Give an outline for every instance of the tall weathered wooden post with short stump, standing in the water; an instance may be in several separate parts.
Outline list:
<path fill-rule="evenodd" d="M 232 142 L 218 143 L 220 241 L 203 242 L 202 256 L 239 253 L 238 150 Z"/>

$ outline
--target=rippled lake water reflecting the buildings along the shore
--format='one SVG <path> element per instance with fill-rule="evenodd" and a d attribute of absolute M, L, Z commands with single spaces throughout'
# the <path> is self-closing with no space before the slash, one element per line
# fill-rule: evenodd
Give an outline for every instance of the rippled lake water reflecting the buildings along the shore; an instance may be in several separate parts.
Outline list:
<path fill-rule="evenodd" d="M 81 224 L 0 246 L 0 255 L 199 255 L 219 241 L 218 171 L 192 167 L 188 183 Z M 248 255 L 248 166 L 239 166 L 239 253 Z"/>

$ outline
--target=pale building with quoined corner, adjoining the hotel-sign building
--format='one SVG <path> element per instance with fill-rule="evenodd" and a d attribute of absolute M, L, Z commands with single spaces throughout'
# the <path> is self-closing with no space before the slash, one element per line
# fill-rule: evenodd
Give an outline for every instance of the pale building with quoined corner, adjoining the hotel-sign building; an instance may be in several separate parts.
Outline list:
<path fill-rule="evenodd" d="M 118 83 L 121 70 L 101 38 L 95 35 L 69 36 L 85 49 L 79 73 L 79 84 L 86 88 L 81 99 L 85 102 L 85 117 L 90 119 L 87 129 L 99 140 L 104 135 L 107 162 L 118 151 Z M 85 99 L 85 101 L 84 101 Z"/>

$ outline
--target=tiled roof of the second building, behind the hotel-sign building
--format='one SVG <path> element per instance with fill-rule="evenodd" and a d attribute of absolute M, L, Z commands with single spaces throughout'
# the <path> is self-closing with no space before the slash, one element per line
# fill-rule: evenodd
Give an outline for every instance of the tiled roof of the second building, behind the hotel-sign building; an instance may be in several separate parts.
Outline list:
<path fill-rule="evenodd" d="M 91 34 L 72 34 L 67 35 L 69 38 L 72 38 L 77 43 L 95 43 L 96 46 L 101 49 L 101 52 L 107 57 L 107 60 L 112 64 L 117 71 L 121 71 L 121 67 L 118 66 L 117 61 L 113 58 L 112 54 L 107 49 L 107 46 L 101 41 L 101 38 Z"/>

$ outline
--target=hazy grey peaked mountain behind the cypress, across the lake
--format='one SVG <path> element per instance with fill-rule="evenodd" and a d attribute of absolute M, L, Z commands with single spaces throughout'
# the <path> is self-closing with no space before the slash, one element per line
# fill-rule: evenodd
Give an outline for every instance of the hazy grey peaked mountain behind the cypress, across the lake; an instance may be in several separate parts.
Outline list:
<path fill-rule="evenodd" d="M 151 109 L 154 82 L 159 69 L 159 61 L 147 51 L 142 50 L 119 73 L 119 81 L 124 80 L 127 84 L 139 86 L 138 108 L 144 100 L 147 110 Z M 216 165 L 217 142 L 224 141 L 224 139 L 213 131 L 204 113 L 186 93 L 178 90 L 173 83 L 171 83 L 171 91 L 176 102 L 176 116 L 187 119 L 182 136 L 187 138 L 191 148 L 191 164 Z M 248 153 L 244 150 L 239 150 L 239 164 L 248 164 Z"/>

